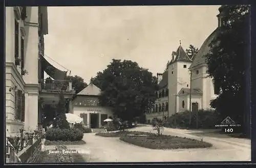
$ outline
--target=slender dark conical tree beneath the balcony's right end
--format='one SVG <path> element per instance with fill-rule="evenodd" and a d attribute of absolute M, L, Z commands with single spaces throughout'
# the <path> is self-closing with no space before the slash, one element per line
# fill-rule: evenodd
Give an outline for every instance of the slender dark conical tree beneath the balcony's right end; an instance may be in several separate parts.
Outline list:
<path fill-rule="evenodd" d="M 54 119 L 53 127 L 60 129 L 69 129 L 69 123 L 67 122 L 67 102 L 62 92 L 59 94 L 59 102 L 56 108 L 56 118 Z"/>

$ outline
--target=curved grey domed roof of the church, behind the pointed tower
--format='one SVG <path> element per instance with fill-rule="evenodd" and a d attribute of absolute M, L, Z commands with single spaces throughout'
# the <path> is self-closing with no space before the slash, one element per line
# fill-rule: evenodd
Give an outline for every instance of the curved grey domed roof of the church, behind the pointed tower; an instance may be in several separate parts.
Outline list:
<path fill-rule="evenodd" d="M 193 62 L 190 65 L 189 69 L 193 69 L 193 67 L 199 64 L 206 64 L 205 55 L 210 52 L 209 44 L 212 40 L 219 34 L 220 28 L 215 29 L 204 41 L 203 45 L 200 47 L 198 53 L 193 57 Z"/>

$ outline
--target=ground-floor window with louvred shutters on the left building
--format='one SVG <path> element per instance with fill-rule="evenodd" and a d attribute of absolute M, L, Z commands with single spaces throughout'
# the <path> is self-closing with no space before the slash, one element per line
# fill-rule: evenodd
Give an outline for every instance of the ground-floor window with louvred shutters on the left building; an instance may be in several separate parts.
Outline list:
<path fill-rule="evenodd" d="M 14 116 L 15 120 L 25 122 L 25 94 L 22 90 L 15 92 Z"/>

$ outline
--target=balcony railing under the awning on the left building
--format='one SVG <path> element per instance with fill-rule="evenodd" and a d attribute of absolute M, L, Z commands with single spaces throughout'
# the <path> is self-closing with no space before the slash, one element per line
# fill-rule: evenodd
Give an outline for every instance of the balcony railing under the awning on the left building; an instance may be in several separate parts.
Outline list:
<path fill-rule="evenodd" d="M 41 89 L 51 92 L 75 92 L 72 88 L 72 82 L 62 80 L 41 80 Z"/>

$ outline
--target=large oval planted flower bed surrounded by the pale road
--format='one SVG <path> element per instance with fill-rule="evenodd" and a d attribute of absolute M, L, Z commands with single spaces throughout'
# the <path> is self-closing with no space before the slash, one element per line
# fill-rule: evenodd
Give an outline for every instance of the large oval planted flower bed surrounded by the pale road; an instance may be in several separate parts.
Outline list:
<path fill-rule="evenodd" d="M 145 135 L 145 133 L 143 133 Z M 124 135 L 120 137 L 127 143 L 137 145 L 150 149 L 184 149 L 184 148 L 209 148 L 212 147 L 210 143 L 199 141 L 196 139 L 189 139 L 186 137 L 170 136 L 170 135 L 156 135 L 152 133 L 147 136 Z"/>

